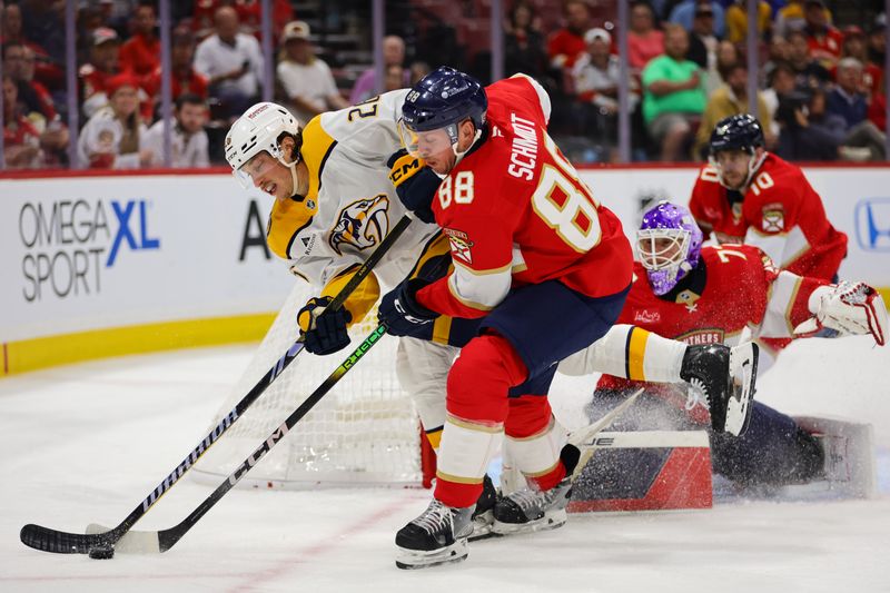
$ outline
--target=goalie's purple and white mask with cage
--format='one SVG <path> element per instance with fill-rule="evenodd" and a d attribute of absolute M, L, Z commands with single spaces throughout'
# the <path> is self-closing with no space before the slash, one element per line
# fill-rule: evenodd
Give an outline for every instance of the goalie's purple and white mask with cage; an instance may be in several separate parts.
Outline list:
<path fill-rule="evenodd" d="M 661 296 L 699 265 L 702 231 L 686 208 L 660 201 L 643 215 L 636 247 L 652 291 Z"/>

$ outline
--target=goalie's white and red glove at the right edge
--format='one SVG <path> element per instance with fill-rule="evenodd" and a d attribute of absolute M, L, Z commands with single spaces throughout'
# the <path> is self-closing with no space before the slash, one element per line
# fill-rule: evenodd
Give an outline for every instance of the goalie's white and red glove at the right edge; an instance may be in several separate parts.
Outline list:
<path fill-rule="evenodd" d="M 814 316 L 794 328 L 794 334 L 812 334 L 823 327 L 841 335 L 871 334 L 879 346 L 887 342 L 887 306 L 881 295 L 864 283 L 842 281 L 810 295 Z"/>

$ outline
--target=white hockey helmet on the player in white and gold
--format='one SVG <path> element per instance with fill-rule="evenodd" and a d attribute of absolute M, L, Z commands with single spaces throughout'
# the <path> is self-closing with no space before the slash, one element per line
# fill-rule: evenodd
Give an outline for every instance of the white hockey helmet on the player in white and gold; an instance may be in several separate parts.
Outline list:
<path fill-rule="evenodd" d="M 283 134 L 297 139 L 297 154 L 293 161 L 281 151 L 279 140 Z M 264 150 L 278 159 L 281 165 L 294 168 L 299 161 L 300 128 L 294 116 L 285 107 L 273 102 L 256 103 L 231 125 L 226 135 L 226 160 L 235 176 L 245 187 L 250 179 L 240 168 Z"/>

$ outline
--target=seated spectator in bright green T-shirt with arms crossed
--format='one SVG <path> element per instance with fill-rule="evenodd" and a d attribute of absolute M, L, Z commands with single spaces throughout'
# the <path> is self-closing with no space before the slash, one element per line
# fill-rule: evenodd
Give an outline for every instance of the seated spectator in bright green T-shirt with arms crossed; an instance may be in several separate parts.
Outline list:
<path fill-rule="evenodd" d="M 689 33 L 679 24 L 664 28 L 664 55 L 643 70 L 643 119 L 661 159 L 684 160 L 684 144 L 706 102 L 703 73 L 685 58 Z"/>

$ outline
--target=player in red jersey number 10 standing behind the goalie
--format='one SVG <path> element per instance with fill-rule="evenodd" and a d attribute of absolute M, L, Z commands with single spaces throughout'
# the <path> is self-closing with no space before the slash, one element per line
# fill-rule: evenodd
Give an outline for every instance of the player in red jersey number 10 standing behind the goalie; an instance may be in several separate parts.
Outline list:
<path fill-rule="evenodd" d="M 847 235 L 831 226 L 822 200 L 799 167 L 764 148 L 748 113 L 718 122 L 710 162 L 699 172 L 689 208 L 705 238 L 762 249 L 781 269 L 832 280 L 847 255 Z"/>

